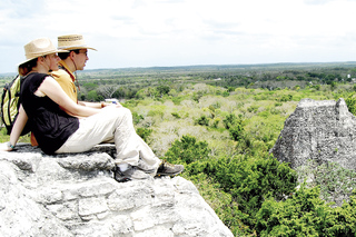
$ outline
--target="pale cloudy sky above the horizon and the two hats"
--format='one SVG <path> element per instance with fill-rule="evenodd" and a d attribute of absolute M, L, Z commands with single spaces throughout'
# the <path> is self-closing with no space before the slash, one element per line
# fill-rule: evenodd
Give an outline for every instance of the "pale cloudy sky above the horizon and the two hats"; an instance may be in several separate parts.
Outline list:
<path fill-rule="evenodd" d="M 87 69 L 356 61 L 356 0 L 1 0 L 0 73 L 81 33 Z"/>

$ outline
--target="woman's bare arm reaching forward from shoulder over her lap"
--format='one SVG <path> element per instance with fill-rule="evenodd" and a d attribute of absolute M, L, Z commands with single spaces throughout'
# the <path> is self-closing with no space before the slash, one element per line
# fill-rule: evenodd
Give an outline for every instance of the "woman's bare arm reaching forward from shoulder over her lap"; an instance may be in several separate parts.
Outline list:
<path fill-rule="evenodd" d="M 72 116 L 88 117 L 100 112 L 99 109 L 79 106 L 73 102 L 52 77 L 47 77 L 36 92 L 48 96 L 65 111 Z"/>

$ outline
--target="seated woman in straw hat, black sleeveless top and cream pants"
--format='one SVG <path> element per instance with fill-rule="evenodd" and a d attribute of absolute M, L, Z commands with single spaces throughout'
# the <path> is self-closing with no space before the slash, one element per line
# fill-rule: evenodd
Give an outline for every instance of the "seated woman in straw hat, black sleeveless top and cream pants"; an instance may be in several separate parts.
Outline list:
<path fill-rule="evenodd" d="M 135 131 L 129 109 L 116 105 L 100 110 L 83 107 L 66 95 L 48 75 L 51 70 L 58 70 L 57 53 L 62 51 L 57 50 L 48 38 L 36 39 L 24 46 L 27 59 L 19 65 L 20 75 L 26 77 L 21 88 L 21 106 L 10 141 L 2 150 L 14 148 L 28 122 L 46 154 L 82 152 L 103 140 L 113 139 L 117 148 L 115 162 L 119 166 L 116 170 L 118 181 L 148 179 L 160 169 L 175 171 L 172 175 L 181 172 L 182 166 L 160 166 L 160 159 L 154 159 L 152 150 Z M 145 157 L 156 161 L 150 164 L 155 167 L 151 174 L 137 168 Z"/>

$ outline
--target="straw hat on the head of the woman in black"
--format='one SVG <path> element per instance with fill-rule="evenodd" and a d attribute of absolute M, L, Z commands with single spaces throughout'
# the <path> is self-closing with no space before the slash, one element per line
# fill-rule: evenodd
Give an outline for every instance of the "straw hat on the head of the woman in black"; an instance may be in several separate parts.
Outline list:
<path fill-rule="evenodd" d="M 19 66 L 41 56 L 47 56 L 57 52 L 68 52 L 67 50 L 58 50 L 49 38 L 40 38 L 32 40 L 31 42 L 27 43 L 23 48 L 26 61 L 19 63 Z"/>

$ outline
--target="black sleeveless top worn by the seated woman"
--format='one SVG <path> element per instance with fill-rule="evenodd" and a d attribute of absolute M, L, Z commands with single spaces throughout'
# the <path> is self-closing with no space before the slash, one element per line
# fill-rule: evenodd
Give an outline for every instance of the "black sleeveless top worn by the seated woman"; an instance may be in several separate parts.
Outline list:
<path fill-rule="evenodd" d="M 53 154 L 79 128 L 79 119 L 61 110 L 48 96 L 34 95 L 46 73 L 30 73 L 21 87 L 21 103 L 31 131 L 46 154 Z"/>

